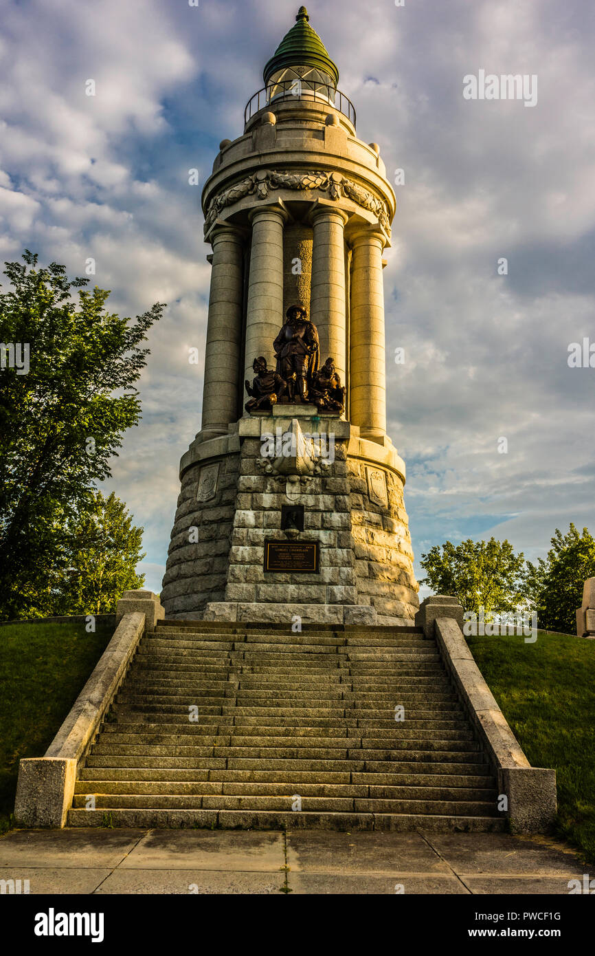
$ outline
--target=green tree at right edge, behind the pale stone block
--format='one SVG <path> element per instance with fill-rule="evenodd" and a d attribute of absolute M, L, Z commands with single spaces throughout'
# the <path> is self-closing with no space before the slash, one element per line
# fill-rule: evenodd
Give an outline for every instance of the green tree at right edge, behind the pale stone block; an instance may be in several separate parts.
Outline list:
<path fill-rule="evenodd" d="M 595 538 L 586 528 L 579 534 L 570 522 L 565 534 L 556 529 L 545 559 L 527 561 L 525 592 L 543 630 L 575 633 L 587 577 L 595 577 Z"/>

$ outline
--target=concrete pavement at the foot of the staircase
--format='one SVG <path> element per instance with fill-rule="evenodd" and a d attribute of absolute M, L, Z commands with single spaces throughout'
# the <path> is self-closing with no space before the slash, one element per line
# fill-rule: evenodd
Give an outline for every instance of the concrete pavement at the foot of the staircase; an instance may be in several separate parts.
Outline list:
<path fill-rule="evenodd" d="M 32 894 L 567 894 L 584 872 L 562 843 L 507 834 L 76 828 L 0 839 L 0 880 L 29 880 Z"/>

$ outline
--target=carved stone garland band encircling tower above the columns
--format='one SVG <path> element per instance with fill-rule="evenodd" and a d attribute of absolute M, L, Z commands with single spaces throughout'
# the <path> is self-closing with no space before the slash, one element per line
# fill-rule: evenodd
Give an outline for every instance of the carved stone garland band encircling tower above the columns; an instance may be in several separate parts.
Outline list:
<path fill-rule="evenodd" d="M 358 206 L 363 206 L 378 217 L 380 226 L 387 235 L 391 235 L 389 210 L 385 203 L 377 199 L 371 192 L 346 179 L 341 173 L 308 172 L 282 173 L 274 169 L 259 169 L 258 172 L 247 176 L 240 183 L 230 186 L 220 192 L 211 201 L 204 217 L 204 231 L 207 232 L 213 225 L 222 209 L 233 206 L 244 199 L 244 196 L 256 196 L 257 199 L 266 199 L 270 189 L 320 189 L 327 192 L 331 199 L 340 199 L 346 196 Z"/>

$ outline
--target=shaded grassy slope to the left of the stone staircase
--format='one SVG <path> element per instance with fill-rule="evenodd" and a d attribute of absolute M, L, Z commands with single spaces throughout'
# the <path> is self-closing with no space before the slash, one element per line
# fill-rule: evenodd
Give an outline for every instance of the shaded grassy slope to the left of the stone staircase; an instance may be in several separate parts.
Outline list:
<path fill-rule="evenodd" d="M 113 633 L 100 618 L 95 634 L 73 621 L 0 627 L 0 833 L 20 758 L 44 755 Z"/>

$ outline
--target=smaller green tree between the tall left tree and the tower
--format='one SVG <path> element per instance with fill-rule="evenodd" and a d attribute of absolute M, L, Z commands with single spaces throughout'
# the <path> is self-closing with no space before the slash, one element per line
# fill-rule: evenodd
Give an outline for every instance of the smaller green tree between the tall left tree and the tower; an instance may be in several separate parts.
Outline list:
<path fill-rule="evenodd" d="M 111 614 L 123 591 L 144 584 L 136 567 L 142 553 L 142 528 L 114 492 L 96 491 L 76 516 L 69 534 L 68 568 L 53 595 L 54 614 Z"/>

